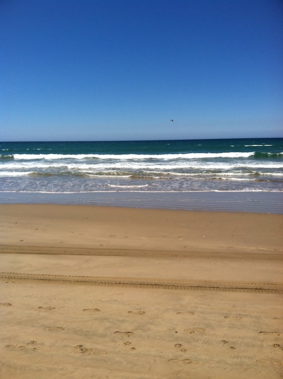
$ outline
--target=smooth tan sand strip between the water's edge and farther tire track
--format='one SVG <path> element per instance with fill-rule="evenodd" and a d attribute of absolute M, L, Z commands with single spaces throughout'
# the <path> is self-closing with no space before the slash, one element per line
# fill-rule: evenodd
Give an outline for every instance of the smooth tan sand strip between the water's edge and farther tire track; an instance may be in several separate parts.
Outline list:
<path fill-rule="evenodd" d="M 283 250 L 283 215 L 1 204 L 1 244 L 199 252 Z"/>

